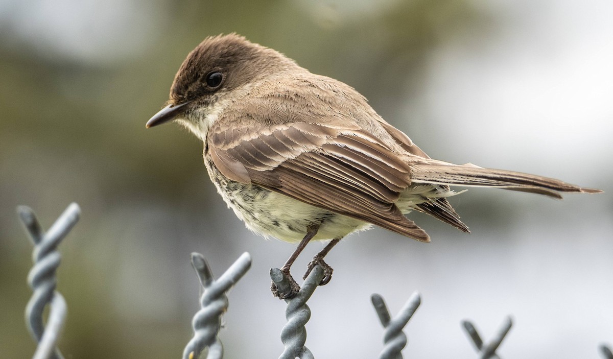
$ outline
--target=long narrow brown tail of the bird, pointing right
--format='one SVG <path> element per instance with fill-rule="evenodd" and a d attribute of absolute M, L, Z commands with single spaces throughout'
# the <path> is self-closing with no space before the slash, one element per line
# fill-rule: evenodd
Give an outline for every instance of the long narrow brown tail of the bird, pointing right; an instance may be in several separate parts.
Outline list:
<path fill-rule="evenodd" d="M 558 192 L 600 193 L 600 189 L 583 188 L 558 179 L 482 168 L 473 164 L 411 164 L 413 183 L 447 184 L 456 186 L 497 187 L 511 191 L 531 192 L 562 198 Z"/>

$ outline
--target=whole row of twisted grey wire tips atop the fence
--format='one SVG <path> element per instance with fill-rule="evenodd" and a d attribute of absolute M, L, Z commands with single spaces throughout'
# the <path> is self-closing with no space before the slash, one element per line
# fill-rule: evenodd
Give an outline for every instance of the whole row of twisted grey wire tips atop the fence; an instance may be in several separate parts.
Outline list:
<path fill-rule="evenodd" d="M 60 262 L 57 248 L 58 244 L 77 223 L 80 208 L 76 203 L 71 203 L 47 232 L 42 229 L 36 215 L 30 208 L 19 206 L 17 213 L 21 222 L 25 225 L 32 243 L 34 243 L 32 253 L 34 266 L 28 274 L 28 283 L 33 293 L 26 306 L 26 325 L 32 338 L 37 342 L 37 349 L 33 358 L 63 359 L 56 344 L 66 319 L 67 306 L 62 295 L 56 291 L 56 270 Z M 204 357 L 204 355 L 207 359 L 222 359 L 223 346 L 219 341 L 218 334 L 221 328 L 221 317 L 227 311 L 229 303 L 226 293 L 249 270 L 251 255 L 246 252 L 243 253 L 219 276 L 219 279 L 215 279 L 202 254 L 192 253 L 191 263 L 196 270 L 199 284 L 204 290 L 200 296 L 201 308 L 192 319 L 194 336 L 183 350 L 183 359 L 197 359 Z M 311 309 L 308 307 L 307 301 L 313 295 L 323 276 L 323 270 L 316 266 L 303 282 L 298 294 L 294 298 L 285 300 L 287 303 L 285 311 L 287 323 L 281 329 L 281 342 L 283 342 L 284 349 L 279 357 L 280 359 L 314 358 L 313 353 L 305 346 L 307 341 L 305 324 L 311 317 Z M 278 268 L 270 270 L 270 278 L 281 291 L 284 291 L 289 285 L 287 278 Z M 413 293 L 393 318 L 390 316 L 381 295 L 373 294 L 371 301 L 379 321 L 384 327 L 384 347 L 378 358 L 402 359 L 402 350 L 407 343 L 406 335 L 402 330 L 421 304 L 419 293 Z M 47 306 L 50 310 L 47 324 L 44 325 L 43 311 Z M 507 317 L 492 339 L 484 343 L 473 323 L 468 320 L 462 322 L 462 327 L 468 334 L 468 338 L 473 342 L 481 359 L 500 358 L 496 351 L 509 333 L 511 326 L 511 317 Z M 613 353 L 606 344 L 601 344 L 600 353 L 605 359 L 613 359 Z"/>

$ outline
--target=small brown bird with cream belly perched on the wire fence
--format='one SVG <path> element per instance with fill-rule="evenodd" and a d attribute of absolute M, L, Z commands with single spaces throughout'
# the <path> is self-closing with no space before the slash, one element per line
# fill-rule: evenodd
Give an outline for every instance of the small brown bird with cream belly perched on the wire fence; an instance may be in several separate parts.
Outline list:
<path fill-rule="evenodd" d="M 462 232 L 468 227 L 448 197 L 450 186 L 496 187 L 562 198 L 594 194 L 527 173 L 456 165 L 430 158 L 387 123 L 345 83 L 316 75 L 272 48 L 232 33 L 211 36 L 192 50 L 170 87 L 170 99 L 146 127 L 175 121 L 204 143 L 204 164 L 227 206 L 246 227 L 297 248 L 290 269 L 311 240 L 329 241 L 313 257 L 332 278 L 324 257 L 345 236 L 377 225 L 417 241 L 430 236 L 406 214 L 419 211 Z"/>

